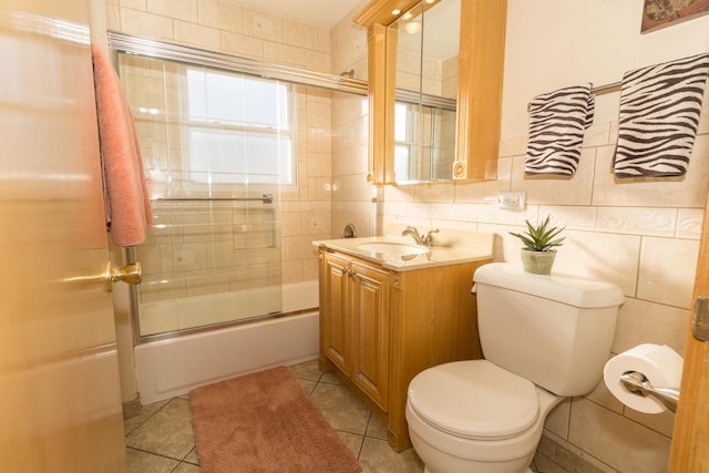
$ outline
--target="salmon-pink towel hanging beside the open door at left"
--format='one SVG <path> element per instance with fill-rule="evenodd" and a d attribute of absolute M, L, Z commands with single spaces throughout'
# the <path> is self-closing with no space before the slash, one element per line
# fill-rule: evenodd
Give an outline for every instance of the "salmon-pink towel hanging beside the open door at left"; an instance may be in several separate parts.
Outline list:
<path fill-rule="evenodd" d="M 133 115 L 106 54 L 91 44 L 106 225 L 117 246 L 145 241 L 153 213 Z"/>

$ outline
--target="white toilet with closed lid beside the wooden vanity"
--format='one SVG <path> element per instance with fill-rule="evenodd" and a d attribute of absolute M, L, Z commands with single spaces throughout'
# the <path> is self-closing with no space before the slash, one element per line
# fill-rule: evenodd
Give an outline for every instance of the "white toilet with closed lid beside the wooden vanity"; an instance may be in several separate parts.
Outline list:
<path fill-rule="evenodd" d="M 428 473 L 523 473 L 544 420 L 603 377 L 617 286 L 502 263 L 473 277 L 483 360 L 429 368 L 409 384 L 411 442 Z"/>

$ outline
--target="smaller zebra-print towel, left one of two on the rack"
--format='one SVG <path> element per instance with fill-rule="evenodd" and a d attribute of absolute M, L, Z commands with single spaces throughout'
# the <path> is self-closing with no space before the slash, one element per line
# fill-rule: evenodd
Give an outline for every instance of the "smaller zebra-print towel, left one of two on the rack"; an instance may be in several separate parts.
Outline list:
<path fill-rule="evenodd" d="M 578 166 L 584 130 L 594 121 L 590 83 L 535 96 L 530 102 L 526 175 L 573 176 Z"/>

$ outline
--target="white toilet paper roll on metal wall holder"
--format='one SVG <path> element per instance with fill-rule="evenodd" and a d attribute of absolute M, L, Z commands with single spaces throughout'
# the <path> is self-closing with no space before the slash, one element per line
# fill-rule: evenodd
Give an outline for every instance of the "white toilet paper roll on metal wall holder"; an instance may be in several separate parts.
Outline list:
<path fill-rule="evenodd" d="M 634 394 L 623 387 L 620 377 L 628 371 L 637 371 L 654 388 L 679 389 L 682 379 L 682 357 L 666 345 L 638 345 L 613 357 L 603 370 L 603 379 L 608 390 L 628 408 L 649 414 L 658 414 L 667 409 L 655 398 Z"/>

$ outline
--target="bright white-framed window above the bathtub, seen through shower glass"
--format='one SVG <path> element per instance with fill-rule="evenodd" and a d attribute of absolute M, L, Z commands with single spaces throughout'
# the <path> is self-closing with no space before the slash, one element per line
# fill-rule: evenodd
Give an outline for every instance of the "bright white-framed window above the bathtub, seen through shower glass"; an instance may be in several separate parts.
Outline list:
<path fill-rule="evenodd" d="M 291 85 L 186 68 L 183 162 L 193 184 L 296 184 Z"/>

